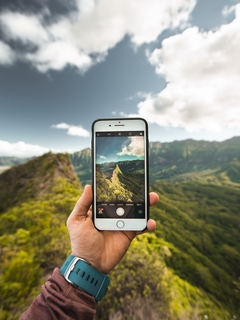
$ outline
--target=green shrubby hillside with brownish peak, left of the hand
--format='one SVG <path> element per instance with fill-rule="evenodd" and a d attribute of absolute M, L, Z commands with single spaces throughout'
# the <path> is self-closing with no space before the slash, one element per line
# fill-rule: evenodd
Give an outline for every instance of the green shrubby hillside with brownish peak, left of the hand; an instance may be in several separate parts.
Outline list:
<path fill-rule="evenodd" d="M 1 319 L 18 319 L 70 252 L 66 219 L 80 193 L 68 155 L 48 153 L 0 176 Z"/>

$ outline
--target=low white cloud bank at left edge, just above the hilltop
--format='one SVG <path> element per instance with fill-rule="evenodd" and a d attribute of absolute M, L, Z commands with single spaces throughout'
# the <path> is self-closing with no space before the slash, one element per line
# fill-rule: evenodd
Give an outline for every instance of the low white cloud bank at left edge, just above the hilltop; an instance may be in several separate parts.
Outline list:
<path fill-rule="evenodd" d="M 23 141 L 10 143 L 8 141 L 0 140 L 0 156 L 28 158 L 33 156 L 40 156 L 49 151 L 59 152 L 55 149 L 44 148 L 38 145 L 25 143 Z"/>

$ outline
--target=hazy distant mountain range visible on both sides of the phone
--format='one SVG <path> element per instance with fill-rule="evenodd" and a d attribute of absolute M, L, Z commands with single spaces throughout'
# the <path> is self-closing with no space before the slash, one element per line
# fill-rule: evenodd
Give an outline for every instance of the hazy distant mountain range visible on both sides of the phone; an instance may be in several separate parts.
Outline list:
<path fill-rule="evenodd" d="M 91 184 L 91 149 L 73 153 L 70 157 L 82 184 Z M 239 167 L 240 137 L 223 142 L 184 140 L 150 142 L 149 145 L 150 182 L 191 180 L 207 177 L 212 172 L 219 179 L 225 178 L 225 172 L 231 181 L 240 182 Z"/>

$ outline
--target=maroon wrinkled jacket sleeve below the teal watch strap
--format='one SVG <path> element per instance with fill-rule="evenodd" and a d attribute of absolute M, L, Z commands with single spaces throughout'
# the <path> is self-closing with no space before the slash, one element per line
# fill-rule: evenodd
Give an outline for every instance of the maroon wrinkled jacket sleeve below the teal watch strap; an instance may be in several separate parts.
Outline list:
<path fill-rule="evenodd" d="M 22 314 L 20 320 L 93 320 L 96 307 L 94 297 L 69 284 L 56 268 L 42 286 L 42 293 Z"/>

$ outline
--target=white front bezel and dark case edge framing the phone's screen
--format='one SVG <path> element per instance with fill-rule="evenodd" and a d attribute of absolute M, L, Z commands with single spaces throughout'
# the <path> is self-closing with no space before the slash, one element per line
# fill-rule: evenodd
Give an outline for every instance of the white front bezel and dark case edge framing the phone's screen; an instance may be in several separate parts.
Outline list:
<path fill-rule="evenodd" d="M 123 127 L 124 126 L 124 127 Z M 116 131 L 144 131 L 145 147 L 145 218 L 96 218 L 96 136 L 95 132 L 116 132 Z M 143 118 L 106 118 L 97 119 L 92 124 L 92 189 L 93 189 L 93 222 L 98 230 L 118 231 L 143 231 L 149 219 L 149 174 L 148 174 L 148 124 Z M 117 224 L 123 221 L 124 226 L 119 228 Z"/>

